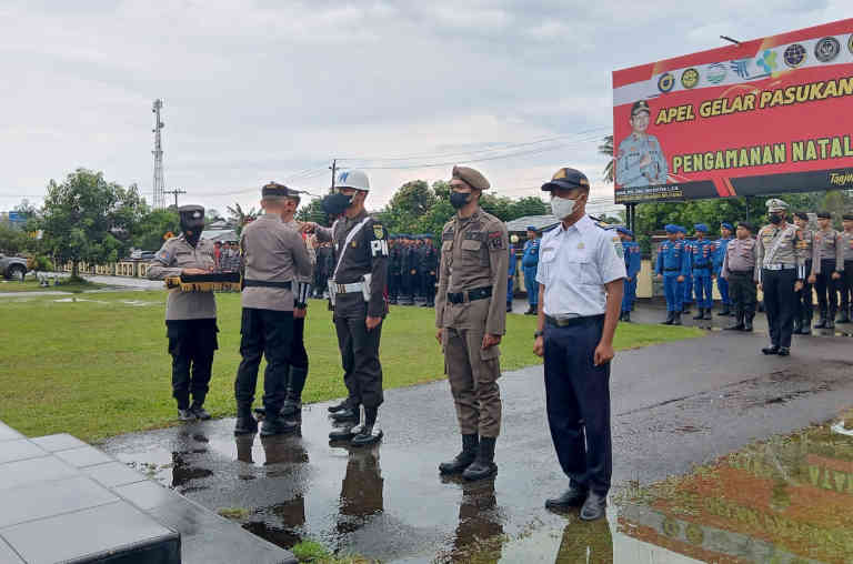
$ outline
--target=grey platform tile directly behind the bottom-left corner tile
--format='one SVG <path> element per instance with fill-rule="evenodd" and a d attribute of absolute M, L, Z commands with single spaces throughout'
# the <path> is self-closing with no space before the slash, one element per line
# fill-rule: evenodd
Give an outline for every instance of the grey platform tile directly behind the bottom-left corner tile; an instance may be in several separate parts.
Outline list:
<path fill-rule="evenodd" d="M 106 487 L 80 475 L 0 490 L 0 528 L 118 500 Z"/>

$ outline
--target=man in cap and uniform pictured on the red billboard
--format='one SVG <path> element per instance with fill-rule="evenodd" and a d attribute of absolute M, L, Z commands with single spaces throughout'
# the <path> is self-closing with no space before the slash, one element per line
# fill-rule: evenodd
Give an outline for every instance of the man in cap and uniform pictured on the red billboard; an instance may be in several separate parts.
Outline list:
<path fill-rule="evenodd" d="M 650 111 L 645 100 L 631 107 L 632 132 L 619 143 L 616 153 L 616 183 L 622 187 L 666 183 L 666 158 L 658 139 L 648 133 Z"/>

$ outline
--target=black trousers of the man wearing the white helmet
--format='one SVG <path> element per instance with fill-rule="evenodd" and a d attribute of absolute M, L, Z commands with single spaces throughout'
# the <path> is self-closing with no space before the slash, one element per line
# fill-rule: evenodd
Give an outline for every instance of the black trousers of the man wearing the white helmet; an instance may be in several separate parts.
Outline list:
<path fill-rule="evenodd" d="M 338 295 L 333 319 L 343 383 L 353 404 L 379 407 L 383 401 L 382 364 L 379 362 L 382 323 L 368 331 L 367 318 L 368 304 L 361 294 Z"/>

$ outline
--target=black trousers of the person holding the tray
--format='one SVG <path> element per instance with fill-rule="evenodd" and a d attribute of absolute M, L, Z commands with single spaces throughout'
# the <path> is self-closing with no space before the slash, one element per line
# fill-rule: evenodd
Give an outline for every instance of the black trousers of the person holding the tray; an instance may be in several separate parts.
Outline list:
<path fill-rule="evenodd" d="M 208 395 L 217 342 L 217 320 L 178 320 L 165 322 L 169 354 L 172 355 L 172 397 L 178 409 L 190 406 L 190 394 L 198 404 Z"/>

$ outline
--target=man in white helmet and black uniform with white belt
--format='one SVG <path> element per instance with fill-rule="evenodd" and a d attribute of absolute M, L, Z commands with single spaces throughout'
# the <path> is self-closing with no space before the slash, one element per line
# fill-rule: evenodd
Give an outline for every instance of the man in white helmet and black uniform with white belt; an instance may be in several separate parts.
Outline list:
<path fill-rule="evenodd" d="M 382 320 L 388 313 L 389 251 L 385 228 L 364 209 L 369 191 L 370 183 L 363 171 L 341 172 L 335 193 L 323 200 L 323 210 L 340 218 L 331 228 L 313 222 L 302 226 L 317 233 L 321 242 L 331 241 L 334 250 L 329 293 L 349 397 L 332 413 L 343 426 L 334 429 L 329 439 L 350 441 L 357 446 L 382 437 L 375 423 L 382 404 L 379 341 Z M 359 422 L 361 424 L 357 424 Z"/>

